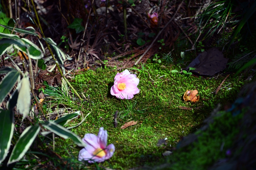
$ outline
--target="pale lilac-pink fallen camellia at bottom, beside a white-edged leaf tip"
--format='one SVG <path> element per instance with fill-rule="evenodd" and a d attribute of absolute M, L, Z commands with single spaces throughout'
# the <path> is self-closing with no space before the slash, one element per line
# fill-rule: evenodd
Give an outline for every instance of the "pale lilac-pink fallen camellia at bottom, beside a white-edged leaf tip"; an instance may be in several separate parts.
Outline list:
<path fill-rule="evenodd" d="M 86 144 L 78 155 L 78 160 L 88 160 L 89 163 L 103 162 L 113 156 L 115 146 L 110 144 L 107 146 L 108 132 L 103 127 L 100 128 L 98 136 L 87 133 L 82 141 Z"/>

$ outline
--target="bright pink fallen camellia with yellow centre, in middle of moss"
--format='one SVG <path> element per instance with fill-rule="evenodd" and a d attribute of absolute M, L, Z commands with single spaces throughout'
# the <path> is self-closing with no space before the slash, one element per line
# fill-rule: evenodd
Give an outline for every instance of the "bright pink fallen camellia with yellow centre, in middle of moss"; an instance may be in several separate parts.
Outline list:
<path fill-rule="evenodd" d="M 110 89 L 110 93 L 119 99 L 132 99 L 133 95 L 140 92 L 137 88 L 140 80 L 135 74 L 131 74 L 128 70 L 117 73 L 114 85 Z"/>

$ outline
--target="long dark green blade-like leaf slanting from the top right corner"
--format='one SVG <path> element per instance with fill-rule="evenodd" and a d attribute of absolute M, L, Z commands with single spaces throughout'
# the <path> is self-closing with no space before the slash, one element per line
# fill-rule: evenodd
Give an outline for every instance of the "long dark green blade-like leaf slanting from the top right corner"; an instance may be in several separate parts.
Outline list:
<path fill-rule="evenodd" d="M 228 44 L 228 49 L 229 49 L 230 45 L 232 44 L 232 42 L 234 41 L 234 39 L 236 38 L 236 35 L 241 31 L 244 24 L 248 21 L 249 18 L 251 18 L 252 14 L 254 14 L 255 11 L 256 11 L 256 1 L 254 1 L 254 3 L 250 6 L 248 11 L 244 15 L 244 18 L 242 19 L 242 21 L 236 28 L 236 31 L 234 32 L 232 39 L 230 40 L 230 42 Z"/>

